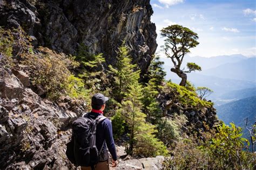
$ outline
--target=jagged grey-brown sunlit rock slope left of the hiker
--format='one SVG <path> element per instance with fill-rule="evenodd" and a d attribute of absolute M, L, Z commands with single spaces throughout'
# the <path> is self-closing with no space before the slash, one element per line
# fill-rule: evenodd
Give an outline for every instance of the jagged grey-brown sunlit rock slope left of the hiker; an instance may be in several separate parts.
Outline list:
<path fill-rule="evenodd" d="M 24 87 L 24 72 L 16 77 L 1 64 L 0 169 L 72 169 L 65 155 L 67 127 L 84 112 L 83 101 L 42 99 Z"/>

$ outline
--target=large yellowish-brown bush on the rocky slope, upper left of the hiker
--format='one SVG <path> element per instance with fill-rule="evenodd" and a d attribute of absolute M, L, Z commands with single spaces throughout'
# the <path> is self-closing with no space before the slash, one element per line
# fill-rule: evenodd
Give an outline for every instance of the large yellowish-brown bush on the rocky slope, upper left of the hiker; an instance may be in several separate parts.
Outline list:
<path fill-rule="evenodd" d="M 31 70 L 32 84 L 41 86 L 50 99 L 58 99 L 65 87 L 71 90 L 69 78 L 72 78 L 72 74 L 69 69 L 77 66 L 73 58 L 39 47 L 37 53 L 29 53 L 24 57 L 23 64 Z"/>

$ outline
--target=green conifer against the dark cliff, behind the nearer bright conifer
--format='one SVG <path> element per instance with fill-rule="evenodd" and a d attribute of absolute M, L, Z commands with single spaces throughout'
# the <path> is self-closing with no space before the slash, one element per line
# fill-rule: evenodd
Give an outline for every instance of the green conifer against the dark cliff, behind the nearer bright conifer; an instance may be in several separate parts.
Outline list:
<path fill-rule="evenodd" d="M 139 70 L 134 71 L 136 64 L 131 64 L 132 59 L 128 55 L 127 46 L 122 45 L 117 51 L 117 63 L 115 66 L 109 65 L 109 73 L 113 75 L 113 93 L 112 96 L 121 102 L 130 89 L 130 86 L 138 81 Z"/>

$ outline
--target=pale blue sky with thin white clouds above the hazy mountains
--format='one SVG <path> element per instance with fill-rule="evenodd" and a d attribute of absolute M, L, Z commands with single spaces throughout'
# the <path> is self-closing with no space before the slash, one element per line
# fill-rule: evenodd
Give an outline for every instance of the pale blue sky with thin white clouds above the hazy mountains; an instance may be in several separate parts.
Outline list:
<path fill-rule="evenodd" d="M 151 21 L 157 27 L 157 52 L 164 43 L 160 30 L 172 24 L 198 33 L 200 43 L 190 56 L 242 54 L 256 56 L 256 1 L 151 0 Z"/>

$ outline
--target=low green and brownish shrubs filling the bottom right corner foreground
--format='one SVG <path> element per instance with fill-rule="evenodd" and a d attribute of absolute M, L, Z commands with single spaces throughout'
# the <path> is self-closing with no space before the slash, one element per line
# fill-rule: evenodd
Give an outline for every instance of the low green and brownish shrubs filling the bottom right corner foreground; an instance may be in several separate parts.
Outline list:
<path fill-rule="evenodd" d="M 253 153 L 247 152 L 241 138 L 241 128 L 231 124 L 218 127 L 217 132 L 202 132 L 197 137 L 178 141 L 173 145 L 173 158 L 164 161 L 171 169 L 253 169 Z"/>

